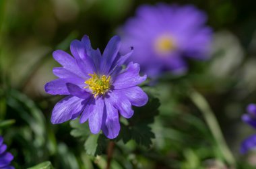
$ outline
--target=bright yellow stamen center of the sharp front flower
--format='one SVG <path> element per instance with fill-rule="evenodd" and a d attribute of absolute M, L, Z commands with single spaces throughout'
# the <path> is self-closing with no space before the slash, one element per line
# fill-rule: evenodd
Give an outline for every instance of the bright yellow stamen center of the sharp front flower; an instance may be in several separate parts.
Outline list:
<path fill-rule="evenodd" d="M 91 78 L 84 82 L 85 84 L 88 84 L 88 86 L 84 88 L 91 89 L 94 97 L 104 95 L 106 91 L 110 89 L 110 76 L 106 77 L 103 75 L 100 77 L 95 72 L 94 74 L 89 74 L 89 76 L 91 76 Z"/>

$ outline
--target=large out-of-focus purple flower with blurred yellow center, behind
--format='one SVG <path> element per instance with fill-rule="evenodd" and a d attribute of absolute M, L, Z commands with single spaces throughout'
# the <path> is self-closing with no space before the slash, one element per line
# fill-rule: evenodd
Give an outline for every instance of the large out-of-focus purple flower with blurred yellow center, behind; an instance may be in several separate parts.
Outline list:
<path fill-rule="evenodd" d="M 131 59 L 141 70 L 155 78 L 161 72 L 186 72 L 186 58 L 209 58 L 212 29 L 207 17 L 193 5 L 142 5 L 135 17 L 120 28 L 122 51 L 133 46 Z"/>

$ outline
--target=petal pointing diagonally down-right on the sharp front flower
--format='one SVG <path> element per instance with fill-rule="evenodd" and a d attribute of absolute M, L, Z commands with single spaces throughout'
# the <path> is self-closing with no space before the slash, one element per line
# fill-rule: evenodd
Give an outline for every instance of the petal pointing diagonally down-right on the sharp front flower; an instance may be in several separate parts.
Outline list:
<path fill-rule="evenodd" d="M 109 101 L 116 109 L 119 110 L 119 113 L 125 117 L 130 118 L 133 116 L 133 109 L 131 109 L 131 102 L 123 93 L 119 93 L 119 91 L 115 90 L 112 93 L 108 93 Z"/>

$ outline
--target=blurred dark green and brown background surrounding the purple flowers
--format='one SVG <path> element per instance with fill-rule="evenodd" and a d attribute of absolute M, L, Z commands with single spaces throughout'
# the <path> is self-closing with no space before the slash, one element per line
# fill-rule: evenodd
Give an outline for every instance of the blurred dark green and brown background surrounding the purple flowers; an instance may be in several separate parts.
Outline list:
<path fill-rule="evenodd" d="M 58 66 L 51 56 L 84 34 L 92 47 L 104 46 L 141 4 L 131 0 L 0 0 L 0 127 L 15 168 L 51 161 L 55 168 L 104 168 L 106 156 L 86 155 L 84 143 L 70 135 L 69 122 L 51 125 L 61 97 L 44 93 Z M 253 129 L 241 121 L 256 102 L 256 1 L 162 1 L 193 4 L 214 28 L 212 58 L 191 62 L 188 74 L 163 78 L 146 90 L 159 97 L 160 115 L 152 125 L 150 150 L 119 143 L 111 168 L 228 168 L 199 109 L 184 89 L 193 87 L 212 107 L 236 168 L 255 168 L 256 154 L 241 156 L 240 143 Z M 167 79 L 167 80 L 166 80 Z"/>

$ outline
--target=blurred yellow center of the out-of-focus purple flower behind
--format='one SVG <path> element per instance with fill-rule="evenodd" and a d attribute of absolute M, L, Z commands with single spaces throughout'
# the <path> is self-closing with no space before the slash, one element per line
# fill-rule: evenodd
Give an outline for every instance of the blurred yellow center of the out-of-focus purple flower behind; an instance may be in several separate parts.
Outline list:
<path fill-rule="evenodd" d="M 164 35 L 156 39 L 154 47 L 159 54 L 168 54 L 176 48 L 176 45 L 170 36 Z"/>

